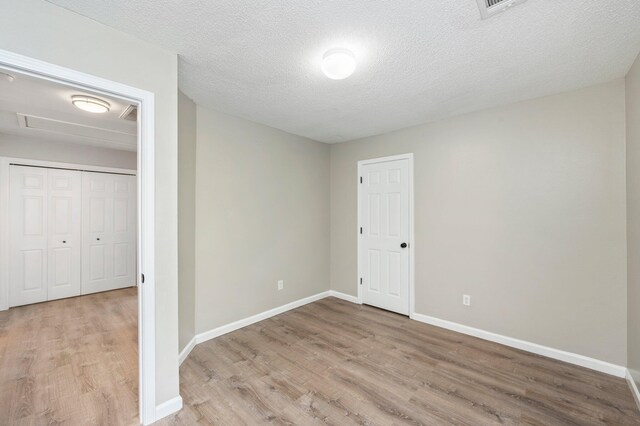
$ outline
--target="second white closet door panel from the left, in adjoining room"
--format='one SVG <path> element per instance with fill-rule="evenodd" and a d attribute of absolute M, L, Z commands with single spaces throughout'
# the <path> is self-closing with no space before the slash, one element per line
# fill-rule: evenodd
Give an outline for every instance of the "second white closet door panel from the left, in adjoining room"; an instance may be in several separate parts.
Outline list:
<path fill-rule="evenodd" d="M 81 178 L 79 171 L 48 172 L 48 297 L 80 295 Z"/>

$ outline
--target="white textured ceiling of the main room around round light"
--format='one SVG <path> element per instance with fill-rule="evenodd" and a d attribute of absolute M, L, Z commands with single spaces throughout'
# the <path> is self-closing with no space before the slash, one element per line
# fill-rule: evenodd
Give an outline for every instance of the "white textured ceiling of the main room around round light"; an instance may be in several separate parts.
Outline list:
<path fill-rule="evenodd" d="M 180 55 L 205 107 L 341 142 L 623 77 L 640 1 L 528 0 L 482 21 L 476 0 L 50 0 Z M 326 78 L 322 54 L 358 68 Z"/>

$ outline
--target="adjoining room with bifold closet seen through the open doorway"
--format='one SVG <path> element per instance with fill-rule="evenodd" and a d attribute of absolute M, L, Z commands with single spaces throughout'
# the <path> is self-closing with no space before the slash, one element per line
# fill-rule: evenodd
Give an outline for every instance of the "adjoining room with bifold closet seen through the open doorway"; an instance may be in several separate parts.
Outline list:
<path fill-rule="evenodd" d="M 0 423 L 135 421 L 138 109 L 5 71 Z"/>

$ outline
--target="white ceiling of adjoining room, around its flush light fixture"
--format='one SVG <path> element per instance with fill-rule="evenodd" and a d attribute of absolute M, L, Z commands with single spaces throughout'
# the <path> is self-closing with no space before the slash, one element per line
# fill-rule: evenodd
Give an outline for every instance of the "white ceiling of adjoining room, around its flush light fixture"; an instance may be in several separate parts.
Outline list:
<path fill-rule="evenodd" d="M 2 68 L 0 72 L 15 77 L 13 82 L 0 78 L 0 133 L 136 150 L 137 124 L 120 118 L 129 103 Z M 82 111 L 71 103 L 72 95 L 99 97 L 109 102 L 111 109 L 104 114 Z M 25 127 L 23 115 L 36 128 Z"/>

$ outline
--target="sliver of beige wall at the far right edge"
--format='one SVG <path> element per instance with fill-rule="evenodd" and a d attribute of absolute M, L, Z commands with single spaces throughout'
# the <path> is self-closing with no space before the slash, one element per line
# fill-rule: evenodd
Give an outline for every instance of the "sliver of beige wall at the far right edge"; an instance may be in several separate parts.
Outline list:
<path fill-rule="evenodd" d="M 628 362 L 640 387 L 640 56 L 626 83 Z"/>

